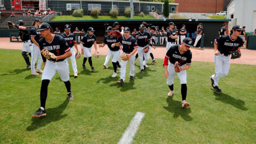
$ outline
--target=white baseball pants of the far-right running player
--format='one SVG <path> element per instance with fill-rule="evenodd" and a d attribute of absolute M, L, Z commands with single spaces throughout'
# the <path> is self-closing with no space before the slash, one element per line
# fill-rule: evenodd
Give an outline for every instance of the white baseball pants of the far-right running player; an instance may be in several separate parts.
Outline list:
<path fill-rule="evenodd" d="M 230 55 L 225 56 L 223 54 L 214 55 L 215 62 L 215 74 L 212 75 L 212 79 L 214 80 L 213 86 L 219 85 L 219 79 L 221 77 L 227 76 L 229 67 L 230 67 Z"/>

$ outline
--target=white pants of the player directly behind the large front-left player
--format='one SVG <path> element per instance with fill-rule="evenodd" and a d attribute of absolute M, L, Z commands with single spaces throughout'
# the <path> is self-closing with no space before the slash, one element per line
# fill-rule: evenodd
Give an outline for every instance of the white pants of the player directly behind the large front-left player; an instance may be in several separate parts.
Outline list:
<path fill-rule="evenodd" d="M 33 43 L 31 45 L 31 63 L 30 63 L 32 73 L 36 71 L 35 70 L 35 64 L 36 64 L 37 58 L 39 58 L 39 59 L 38 59 L 38 62 L 37 62 L 37 68 L 36 69 L 41 69 L 41 65 L 42 65 L 42 62 L 43 62 L 41 51 L 39 50 L 38 46 L 36 46 Z"/>

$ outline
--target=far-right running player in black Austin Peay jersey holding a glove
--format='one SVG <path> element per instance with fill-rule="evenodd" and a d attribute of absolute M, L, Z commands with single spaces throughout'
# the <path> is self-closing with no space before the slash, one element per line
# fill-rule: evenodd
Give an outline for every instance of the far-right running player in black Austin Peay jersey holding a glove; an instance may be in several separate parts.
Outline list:
<path fill-rule="evenodd" d="M 230 52 L 240 51 L 240 47 L 243 45 L 243 39 L 239 37 L 243 32 L 241 26 L 234 26 L 230 35 L 222 35 L 215 39 L 214 43 L 214 62 L 215 62 L 215 74 L 211 78 L 212 87 L 215 92 L 221 93 L 219 89 L 219 79 L 227 76 L 230 66 Z"/>

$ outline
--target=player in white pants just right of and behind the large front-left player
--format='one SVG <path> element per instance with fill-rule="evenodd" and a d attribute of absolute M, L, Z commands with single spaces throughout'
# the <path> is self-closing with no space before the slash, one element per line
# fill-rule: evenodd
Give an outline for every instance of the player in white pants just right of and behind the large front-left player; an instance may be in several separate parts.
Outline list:
<path fill-rule="evenodd" d="M 70 50 L 71 50 L 71 65 L 73 68 L 73 72 L 74 72 L 74 77 L 77 77 L 77 66 L 76 66 L 76 54 L 75 54 L 75 49 L 74 46 L 76 48 L 76 52 L 79 53 L 78 49 L 77 49 L 77 44 L 76 44 L 76 36 L 72 33 L 70 33 L 70 26 L 69 25 L 65 25 L 64 28 L 64 33 L 61 34 L 62 37 L 64 37 L 64 39 L 66 40 L 66 42 L 68 43 Z M 67 61 L 69 61 L 69 58 L 67 58 Z"/>

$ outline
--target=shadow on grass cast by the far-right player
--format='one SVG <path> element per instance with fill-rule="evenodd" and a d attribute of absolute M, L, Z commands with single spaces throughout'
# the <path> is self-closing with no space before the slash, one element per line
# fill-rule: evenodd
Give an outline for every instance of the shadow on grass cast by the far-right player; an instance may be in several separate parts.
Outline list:
<path fill-rule="evenodd" d="M 215 97 L 217 97 L 217 98 L 215 98 L 215 100 L 219 100 L 223 103 L 226 103 L 228 105 L 231 105 L 231 106 L 241 109 L 241 110 L 248 110 L 247 108 L 244 107 L 245 102 L 240 99 L 235 99 L 225 93 L 216 93 L 215 91 L 213 93 L 214 93 Z"/>

